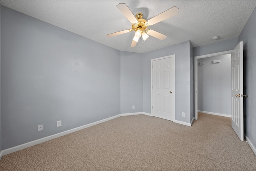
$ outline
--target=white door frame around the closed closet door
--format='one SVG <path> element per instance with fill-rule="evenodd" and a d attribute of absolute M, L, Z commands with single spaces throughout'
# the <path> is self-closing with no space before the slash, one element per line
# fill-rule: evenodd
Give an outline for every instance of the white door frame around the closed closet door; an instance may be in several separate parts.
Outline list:
<path fill-rule="evenodd" d="M 169 56 L 164 56 L 164 57 L 160 57 L 160 58 L 155 58 L 155 59 L 152 59 L 151 62 L 150 62 L 150 70 L 151 70 L 151 84 L 150 84 L 150 94 L 151 94 L 151 116 L 152 116 L 152 96 L 153 96 L 153 92 L 152 92 L 152 86 L 153 86 L 153 61 L 156 61 L 156 60 L 162 60 L 162 59 L 166 59 L 166 58 L 173 58 L 173 108 L 172 108 L 172 113 L 173 113 L 173 122 L 175 122 L 175 55 L 169 55 Z"/>

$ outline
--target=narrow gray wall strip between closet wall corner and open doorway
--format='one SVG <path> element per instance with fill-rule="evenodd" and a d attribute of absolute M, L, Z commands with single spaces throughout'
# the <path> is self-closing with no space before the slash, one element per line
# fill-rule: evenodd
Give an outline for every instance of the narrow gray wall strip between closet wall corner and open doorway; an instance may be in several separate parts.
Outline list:
<path fill-rule="evenodd" d="M 195 117 L 195 97 L 194 97 L 194 48 L 189 42 L 190 50 L 190 121 Z"/>

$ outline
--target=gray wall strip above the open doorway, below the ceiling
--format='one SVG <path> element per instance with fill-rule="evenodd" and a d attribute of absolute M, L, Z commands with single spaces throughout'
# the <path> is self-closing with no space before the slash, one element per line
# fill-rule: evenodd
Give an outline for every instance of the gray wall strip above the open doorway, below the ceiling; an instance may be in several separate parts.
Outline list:
<path fill-rule="evenodd" d="M 238 44 L 238 38 L 223 40 L 212 44 L 206 44 L 194 48 L 194 56 L 201 56 L 207 54 L 214 54 L 217 52 L 224 52 L 233 50 Z"/>

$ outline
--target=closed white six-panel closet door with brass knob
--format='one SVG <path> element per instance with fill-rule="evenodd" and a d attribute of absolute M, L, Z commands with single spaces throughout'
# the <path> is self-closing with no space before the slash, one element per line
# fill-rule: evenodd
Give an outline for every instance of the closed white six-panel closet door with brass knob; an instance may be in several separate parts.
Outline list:
<path fill-rule="evenodd" d="M 173 57 L 152 61 L 152 115 L 173 121 Z"/>

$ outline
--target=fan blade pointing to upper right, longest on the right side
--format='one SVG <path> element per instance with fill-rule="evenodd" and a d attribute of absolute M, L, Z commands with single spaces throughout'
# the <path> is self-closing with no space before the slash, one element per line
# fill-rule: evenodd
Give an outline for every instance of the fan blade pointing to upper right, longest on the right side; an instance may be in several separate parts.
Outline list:
<path fill-rule="evenodd" d="M 148 24 L 152 26 L 153 24 L 156 24 L 160 21 L 166 20 L 167 18 L 170 18 L 172 16 L 177 15 L 179 12 L 179 8 L 176 6 L 170 8 L 169 10 L 166 10 L 162 12 L 161 14 L 158 14 L 157 16 L 154 16 L 153 18 L 148 20 Z"/>

